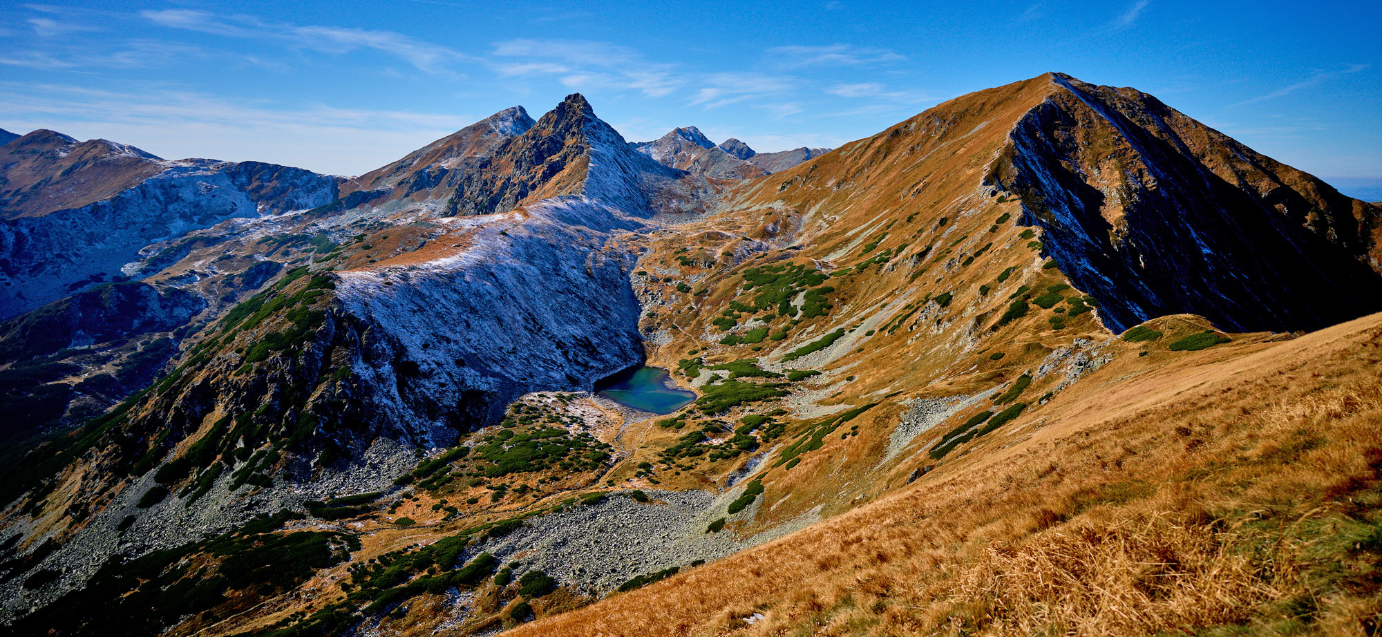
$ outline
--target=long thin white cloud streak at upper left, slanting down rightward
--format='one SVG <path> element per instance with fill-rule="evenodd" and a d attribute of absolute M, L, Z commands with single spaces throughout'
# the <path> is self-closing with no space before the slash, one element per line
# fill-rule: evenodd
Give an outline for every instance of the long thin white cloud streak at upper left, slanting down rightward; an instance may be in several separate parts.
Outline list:
<path fill-rule="evenodd" d="M 419 70 L 444 73 L 449 65 L 468 59 L 459 51 L 426 43 L 391 30 L 321 25 L 268 23 L 247 15 L 220 15 L 209 11 L 169 8 L 141 11 L 145 19 L 170 29 L 187 29 L 243 39 L 279 40 L 290 48 L 343 54 L 361 48 L 394 55 Z"/>

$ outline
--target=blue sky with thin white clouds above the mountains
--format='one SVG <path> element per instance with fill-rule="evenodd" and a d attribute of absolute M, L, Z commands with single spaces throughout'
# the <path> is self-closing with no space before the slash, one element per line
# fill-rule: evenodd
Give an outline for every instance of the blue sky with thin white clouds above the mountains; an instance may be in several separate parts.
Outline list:
<path fill-rule="evenodd" d="M 1046 70 L 1382 185 L 1382 3 L 58 3 L 0 10 L 0 127 L 358 174 L 580 91 L 633 141 L 836 146 Z M 1360 184 L 1360 185 L 1349 185 Z M 1368 185 L 1371 184 L 1371 187 Z M 1382 189 L 1376 198 L 1382 198 Z"/>

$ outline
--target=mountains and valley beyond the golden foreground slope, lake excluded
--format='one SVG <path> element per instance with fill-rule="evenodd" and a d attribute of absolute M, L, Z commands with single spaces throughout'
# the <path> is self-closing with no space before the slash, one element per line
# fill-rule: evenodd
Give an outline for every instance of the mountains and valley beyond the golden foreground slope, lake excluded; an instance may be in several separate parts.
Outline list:
<path fill-rule="evenodd" d="M 1106 365 L 1382 310 L 1382 209 L 1060 73 L 835 151 L 632 144 L 571 94 L 357 178 L 53 131 L 0 167 L 0 401 L 80 426 L 0 468 L 18 631 L 488 631 L 988 462 Z M 641 363 L 697 402 L 583 394 Z M 330 561 L 224 567 L 282 538 Z"/>

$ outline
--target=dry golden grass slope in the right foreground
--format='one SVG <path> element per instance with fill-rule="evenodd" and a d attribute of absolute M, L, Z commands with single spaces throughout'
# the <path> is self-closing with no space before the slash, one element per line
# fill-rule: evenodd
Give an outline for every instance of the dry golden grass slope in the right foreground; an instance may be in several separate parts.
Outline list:
<path fill-rule="evenodd" d="M 1006 449 L 511 634 L 1376 634 L 1379 359 L 1374 315 L 1095 374 Z"/>

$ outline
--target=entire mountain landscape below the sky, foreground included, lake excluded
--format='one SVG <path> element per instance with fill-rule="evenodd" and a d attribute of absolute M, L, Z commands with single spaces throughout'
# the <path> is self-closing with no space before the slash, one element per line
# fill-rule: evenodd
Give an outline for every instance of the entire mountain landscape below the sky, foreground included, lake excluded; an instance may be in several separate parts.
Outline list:
<path fill-rule="evenodd" d="M 1375 612 L 1382 206 L 1133 88 L 775 153 L 572 94 L 358 177 L 6 133 L 0 272 L 21 634 Z"/>

